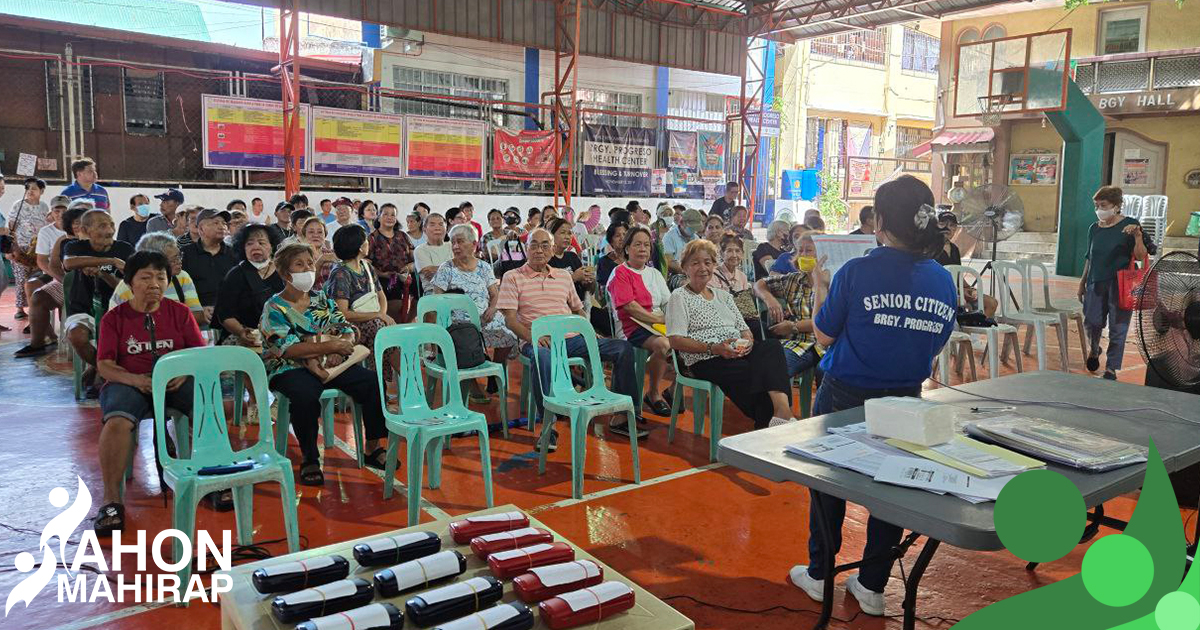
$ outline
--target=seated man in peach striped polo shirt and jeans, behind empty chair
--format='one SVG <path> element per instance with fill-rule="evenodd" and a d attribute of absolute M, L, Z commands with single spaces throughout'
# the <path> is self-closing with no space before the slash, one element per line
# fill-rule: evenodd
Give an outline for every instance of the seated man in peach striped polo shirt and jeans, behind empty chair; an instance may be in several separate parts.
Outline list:
<path fill-rule="evenodd" d="M 583 302 L 575 293 L 571 274 L 565 269 L 550 266 L 553 247 L 554 239 L 545 228 L 530 232 L 529 241 L 526 245 L 526 256 L 528 257 L 526 264 L 504 274 L 496 301 L 496 307 L 504 313 L 509 330 L 521 340 L 521 353 L 530 359 L 534 348 L 530 325 L 534 319 L 570 313 L 583 316 Z M 610 338 L 596 340 L 596 346 L 600 350 L 600 358 L 613 362 L 613 391 L 630 398 L 637 396 L 637 383 L 634 378 L 634 347 L 628 341 Z M 566 340 L 566 353 L 570 356 L 587 356 L 587 344 L 582 337 L 575 336 Z M 533 391 L 536 413 L 541 416 L 541 384 L 550 383 L 550 349 L 539 346 L 538 353 L 538 371 L 535 372 Z M 641 418 L 637 421 L 638 424 L 644 422 Z M 552 430 L 548 450 L 553 451 L 557 446 L 558 431 Z"/>

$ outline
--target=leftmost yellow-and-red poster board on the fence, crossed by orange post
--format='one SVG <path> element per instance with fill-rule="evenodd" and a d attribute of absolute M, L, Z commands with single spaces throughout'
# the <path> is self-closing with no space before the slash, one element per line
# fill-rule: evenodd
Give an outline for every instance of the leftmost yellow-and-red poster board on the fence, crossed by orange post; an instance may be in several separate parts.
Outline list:
<path fill-rule="evenodd" d="M 283 170 L 283 110 L 278 101 L 202 96 L 204 168 Z M 307 151 L 310 106 L 300 106 L 300 150 Z M 300 157 L 300 169 L 308 156 Z"/>

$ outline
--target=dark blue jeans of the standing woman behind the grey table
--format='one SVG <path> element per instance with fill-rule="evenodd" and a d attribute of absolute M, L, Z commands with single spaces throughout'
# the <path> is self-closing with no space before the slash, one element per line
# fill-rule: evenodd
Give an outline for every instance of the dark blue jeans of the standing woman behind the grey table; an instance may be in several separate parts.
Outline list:
<path fill-rule="evenodd" d="M 812 403 L 812 414 L 822 415 L 842 409 L 853 409 L 854 407 L 862 407 L 870 398 L 881 398 L 883 396 L 920 397 L 920 386 L 863 389 L 847 385 L 826 374 L 824 379 L 821 380 L 821 386 L 817 389 L 817 397 Z M 846 502 L 845 499 L 822 494 L 815 490 L 810 490 L 809 493 L 811 496 L 811 505 L 809 508 L 809 575 L 815 580 L 824 580 L 826 571 L 830 570 L 832 566 L 826 566 L 826 546 L 822 534 L 823 523 L 821 516 L 817 514 L 816 505 L 817 502 L 821 502 L 826 520 L 833 526 L 828 535 L 833 544 L 832 557 L 836 558 L 838 552 L 841 551 L 841 524 L 846 520 Z M 889 553 L 892 547 L 900 544 L 901 536 L 904 536 L 904 528 L 871 516 L 866 521 L 866 546 L 863 548 L 863 558 L 874 558 Z M 858 569 L 858 582 L 870 590 L 883 593 L 883 587 L 888 584 L 888 577 L 892 575 L 893 562 L 890 557 L 886 557 L 877 562 L 864 564 Z"/>

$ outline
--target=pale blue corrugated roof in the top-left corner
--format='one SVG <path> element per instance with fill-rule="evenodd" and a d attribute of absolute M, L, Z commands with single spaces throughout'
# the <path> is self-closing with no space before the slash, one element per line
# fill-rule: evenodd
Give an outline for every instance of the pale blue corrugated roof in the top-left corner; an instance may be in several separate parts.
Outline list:
<path fill-rule="evenodd" d="M 211 42 L 198 6 L 178 0 L 5 0 L 0 13 Z"/>

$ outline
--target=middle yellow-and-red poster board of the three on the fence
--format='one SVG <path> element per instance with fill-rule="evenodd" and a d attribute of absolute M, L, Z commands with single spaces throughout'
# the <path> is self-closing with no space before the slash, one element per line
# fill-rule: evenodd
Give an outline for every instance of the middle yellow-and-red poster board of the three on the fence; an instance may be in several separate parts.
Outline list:
<path fill-rule="evenodd" d="M 312 108 L 308 155 L 323 175 L 398 178 L 404 116 L 332 107 Z"/>

